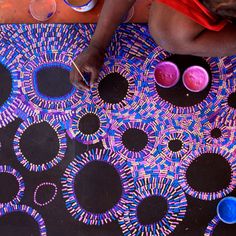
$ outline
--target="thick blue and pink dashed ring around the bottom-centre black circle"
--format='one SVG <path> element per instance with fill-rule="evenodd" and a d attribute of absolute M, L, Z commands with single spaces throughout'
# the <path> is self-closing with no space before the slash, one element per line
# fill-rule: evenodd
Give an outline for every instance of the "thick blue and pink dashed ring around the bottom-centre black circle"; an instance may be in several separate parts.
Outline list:
<path fill-rule="evenodd" d="M 166 215 L 156 224 L 142 225 L 138 221 L 137 208 L 143 199 L 161 196 L 168 202 Z M 187 200 L 177 181 L 170 179 L 145 178 L 136 182 L 133 202 L 119 219 L 125 236 L 129 235 L 169 235 L 184 219 Z"/>

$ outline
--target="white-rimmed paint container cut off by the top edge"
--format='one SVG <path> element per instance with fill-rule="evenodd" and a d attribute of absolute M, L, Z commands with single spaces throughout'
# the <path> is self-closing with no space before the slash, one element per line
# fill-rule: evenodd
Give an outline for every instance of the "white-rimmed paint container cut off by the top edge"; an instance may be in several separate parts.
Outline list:
<path fill-rule="evenodd" d="M 64 2 L 75 11 L 86 12 L 92 10 L 95 7 L 97 0 L 64 0 Z"/>

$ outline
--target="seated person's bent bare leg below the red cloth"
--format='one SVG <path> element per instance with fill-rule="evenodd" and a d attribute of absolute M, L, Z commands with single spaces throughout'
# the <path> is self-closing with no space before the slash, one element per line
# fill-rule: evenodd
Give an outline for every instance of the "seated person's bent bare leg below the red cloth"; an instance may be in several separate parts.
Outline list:
<path fill-rule="evenodd" d="M 220 32 L 210 31 L 161 3 L 153 4 L 151 17 L 153 37 L 167 51 L 202 57 L 236 54 L 235 25 L 228 24 Z"/>

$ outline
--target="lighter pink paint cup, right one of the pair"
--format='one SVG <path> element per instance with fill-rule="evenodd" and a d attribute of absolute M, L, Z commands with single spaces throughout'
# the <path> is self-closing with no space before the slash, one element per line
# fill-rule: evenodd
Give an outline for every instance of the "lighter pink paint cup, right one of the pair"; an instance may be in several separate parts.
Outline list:
<path fill-rule="evenodd" d="M 191 92 L 203 91 L 209 83 L 209 75 L 201 66 L 191 66 L 183 74 L 183 84 Z"/>

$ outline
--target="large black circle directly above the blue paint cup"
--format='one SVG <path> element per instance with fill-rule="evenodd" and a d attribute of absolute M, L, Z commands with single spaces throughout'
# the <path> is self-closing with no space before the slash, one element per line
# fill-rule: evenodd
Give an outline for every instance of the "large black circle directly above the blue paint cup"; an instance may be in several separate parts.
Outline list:
<path fill-rule="evenodd" d="M 217 192 L 229 186 L 231 167 L 223 156 L 204 153 L 191 163 L 186 177 L 195 191 Z"/>

